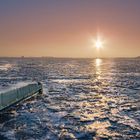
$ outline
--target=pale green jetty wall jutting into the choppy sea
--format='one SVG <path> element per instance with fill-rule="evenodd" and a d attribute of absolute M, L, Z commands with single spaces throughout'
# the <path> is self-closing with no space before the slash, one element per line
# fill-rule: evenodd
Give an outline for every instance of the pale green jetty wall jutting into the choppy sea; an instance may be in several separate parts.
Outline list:
<path fill-rule="evenodd" d="M 40 82 L 30 83 L 23 87 L 15 88 L 6 92 L 0 93 L 0 111 L 25 100 L 35 94 L 43 92 Z"/>

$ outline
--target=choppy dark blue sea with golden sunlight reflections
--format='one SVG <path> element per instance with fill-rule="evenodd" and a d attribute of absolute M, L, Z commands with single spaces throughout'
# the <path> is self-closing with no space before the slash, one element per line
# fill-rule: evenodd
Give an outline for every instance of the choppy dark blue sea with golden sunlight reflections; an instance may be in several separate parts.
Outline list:
<path fill-rule="evenodd" d="M 0 68 L 1 90 L 44 87 L 1 114 L 1 140 L 140 139 L 140 60 L 1 58 Z"/>

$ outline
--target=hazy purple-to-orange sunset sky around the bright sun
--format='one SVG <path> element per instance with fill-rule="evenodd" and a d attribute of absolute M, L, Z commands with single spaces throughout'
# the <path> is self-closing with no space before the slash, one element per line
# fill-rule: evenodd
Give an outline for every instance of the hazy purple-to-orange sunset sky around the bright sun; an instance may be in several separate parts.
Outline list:
<path fill-rule="evenodd" d="M 140 0 L 0 0 L 3 56 L 140 56 Z"/>

